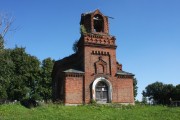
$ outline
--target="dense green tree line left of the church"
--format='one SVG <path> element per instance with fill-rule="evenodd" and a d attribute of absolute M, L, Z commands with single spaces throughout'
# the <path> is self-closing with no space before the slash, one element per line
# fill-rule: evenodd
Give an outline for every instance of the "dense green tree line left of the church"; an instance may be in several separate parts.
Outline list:
<path fill-rule="evenodd" d="M 40 62 L 25 48 L 0 49 L 0 99 L 51 99 L 51 72 L 54 60 Z"/>

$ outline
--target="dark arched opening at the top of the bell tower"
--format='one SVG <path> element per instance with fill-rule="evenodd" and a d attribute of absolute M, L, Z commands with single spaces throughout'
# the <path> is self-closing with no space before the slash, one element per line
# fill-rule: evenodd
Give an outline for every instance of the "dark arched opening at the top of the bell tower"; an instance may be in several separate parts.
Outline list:
<path fill-rule="evenodd" d="M 93 17 L 94 20 L 94 32 L 104 32 L 104 20 L 99 14 Z"/>

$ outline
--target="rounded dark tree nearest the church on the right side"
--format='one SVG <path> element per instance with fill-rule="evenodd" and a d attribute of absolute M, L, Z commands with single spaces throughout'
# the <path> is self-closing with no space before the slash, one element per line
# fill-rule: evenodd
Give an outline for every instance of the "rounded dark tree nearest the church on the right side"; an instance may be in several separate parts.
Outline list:
<path fill-rule="evenodd" d="M 170 104 L 170 98 L 173 95 L 174 86 L 172 84 L 163 84 L 155 82 L 148 85 L 143 91 L 143 97 L 155 101 L 157 104 Z"/>

